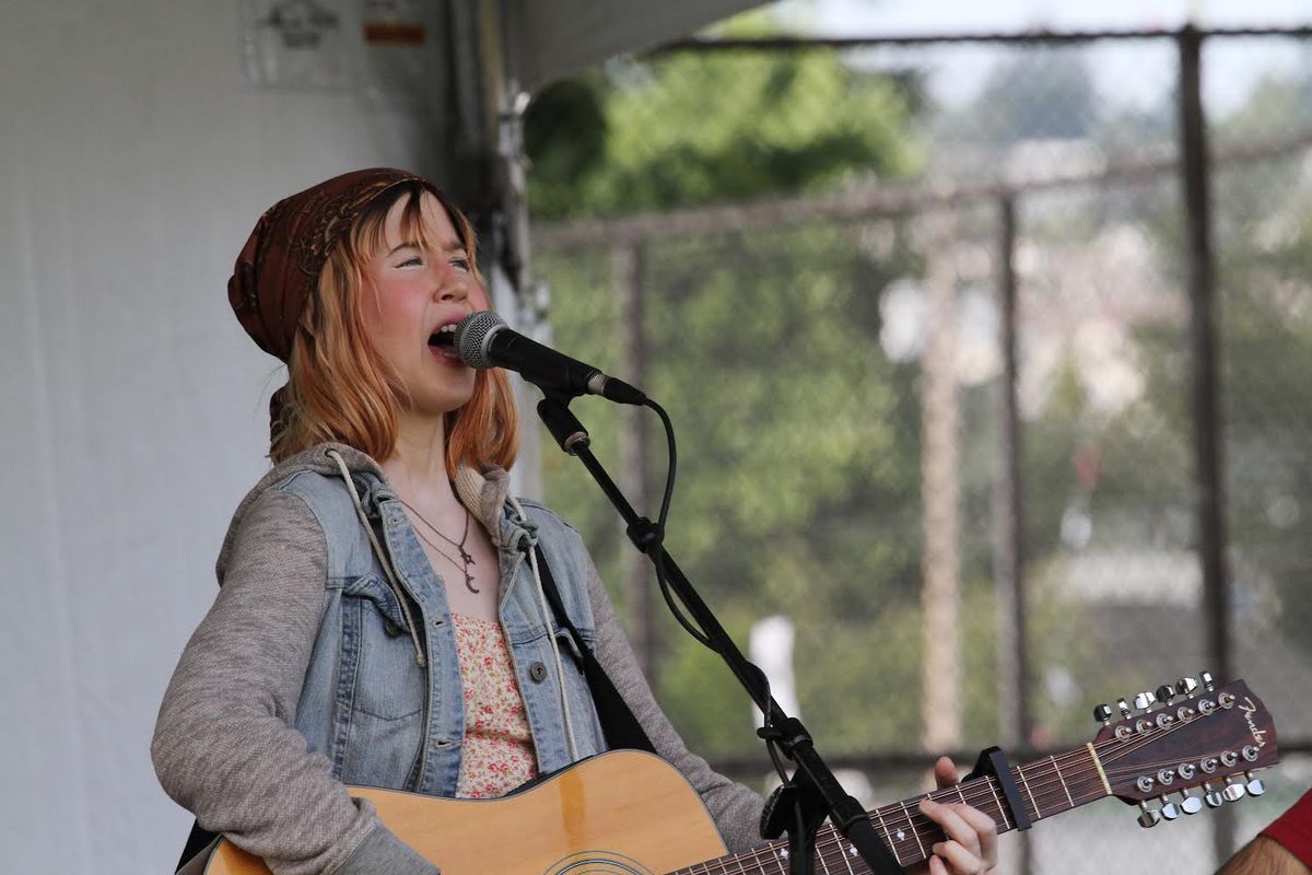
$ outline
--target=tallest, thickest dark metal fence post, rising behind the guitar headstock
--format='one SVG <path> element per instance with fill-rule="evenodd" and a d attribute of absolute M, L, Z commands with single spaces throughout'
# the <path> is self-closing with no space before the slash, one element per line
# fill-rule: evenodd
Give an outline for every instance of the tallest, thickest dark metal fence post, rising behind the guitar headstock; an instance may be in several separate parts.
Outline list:
<path fill-rule="evenodd" d="M 1191 408 L 1198 551 L 1203 572 L 1203 611 L 1207 653 L 1212 673 L 1235 678 L 1229 639 L 1229 581 L 1225 567 L 1225 493 L 1219 403 L 1220 348 L 1216 342 L 1216 261 L 1212 251 L 1211 178 L 1207 155 L 1207 117 L 1202 96 L 1203 34 L 1193 25 L 1179 31 L 1179 168 L 1185 197 L 1185 258 L 1189 282 L 1189 338 L 1191 352 Z M 1212 842 L 1218 862 L 1235 851 L 1235 819 L 1228 809 L 1215 812 Z"/>

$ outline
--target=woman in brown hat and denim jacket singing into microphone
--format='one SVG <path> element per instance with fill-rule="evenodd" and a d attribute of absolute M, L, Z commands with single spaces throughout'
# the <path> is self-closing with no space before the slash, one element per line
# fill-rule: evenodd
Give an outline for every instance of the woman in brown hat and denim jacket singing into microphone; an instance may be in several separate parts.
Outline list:
<path fill-rule="evenodd" d="M 260 218 L 228 298 L 287 384 L 274 467 L 234 514 L 218 596 L 160 708 L 168 794 L 278 875 L 437 872 L 441 854 L 417 854 L 346 786 L 495 798 L 606 750 L 585 647 L 729 850 L 760 844 L 761 798 L 684 746 L 579 534 L 508 492 L 506 375 L 451 346 L 489 307 L 459 210 L 412 173 L 328 180 Z M 946 760 L 935 771 L 955 781 Z M 993 867 L 987 815 L 924 813 L 949 837 L 930 872 Z"/>

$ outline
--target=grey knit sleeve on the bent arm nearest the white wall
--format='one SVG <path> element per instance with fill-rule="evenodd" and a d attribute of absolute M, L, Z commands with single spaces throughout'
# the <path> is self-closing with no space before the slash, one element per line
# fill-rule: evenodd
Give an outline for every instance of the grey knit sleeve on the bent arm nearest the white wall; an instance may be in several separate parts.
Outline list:
<path fill-rule="evenodd" d="M 293 725 L 325 569 L 324 534 L 306 504 L 278 489 L 261 495 L 164 694 L 151 741 L 155 771 L 203 828 L 264 858 L 277 875 L 430 875 L 432 866 L 377 868 L 357 857 L 391 859 L 400 841 L 371 803 L 348 795 Z"/>

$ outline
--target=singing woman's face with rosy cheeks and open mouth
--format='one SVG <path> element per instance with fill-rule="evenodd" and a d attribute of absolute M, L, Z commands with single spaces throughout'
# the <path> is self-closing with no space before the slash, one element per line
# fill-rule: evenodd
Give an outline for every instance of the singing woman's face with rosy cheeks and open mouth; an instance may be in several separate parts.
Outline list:
<path fill-rule="evenodd" d="M 363 266 L 362 317 L 370 341 L 409 396 L 405 409 L 442 415 L 474 394 L 474 370 L 446 340 L 454 337 L 450 327 L 487 310 L 487 293 L 438 199 L 422 194 L 422 239 L 404 231 L 407 201 L 401 197 L 388 210 L 383 243 Z"/>

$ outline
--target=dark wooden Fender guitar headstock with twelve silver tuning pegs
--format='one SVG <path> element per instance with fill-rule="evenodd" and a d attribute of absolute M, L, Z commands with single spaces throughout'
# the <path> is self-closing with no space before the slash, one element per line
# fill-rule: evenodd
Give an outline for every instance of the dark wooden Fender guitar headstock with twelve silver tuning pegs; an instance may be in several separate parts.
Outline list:
<path fill-rule="evenodd" d="M 1207 672 L 1199 677 L 1202 685 L 1181 678 L 1156 693 L 1140 693 L 1132 706 L 1119 699 L 1117 720 L 1106 704 L 1094 710 L 1103 728 L 1093 746 L 1107 787 L 1143 809 L 1144 826 L 1195 813 L 1204 804 L 1218 808 L 1258 796 L 1265 787 L 1253 773 L 1279 762 L 1275 723 L 1248 685 L 1235 681 L 1215 689 Z M 1189 792 L 1198 787 L 1200 794 Z M 1149 808 L 1152 799 L 1161 807 Z"/>

